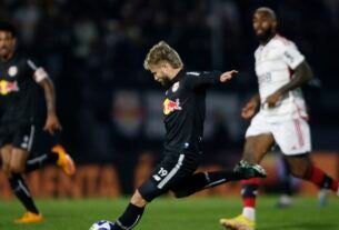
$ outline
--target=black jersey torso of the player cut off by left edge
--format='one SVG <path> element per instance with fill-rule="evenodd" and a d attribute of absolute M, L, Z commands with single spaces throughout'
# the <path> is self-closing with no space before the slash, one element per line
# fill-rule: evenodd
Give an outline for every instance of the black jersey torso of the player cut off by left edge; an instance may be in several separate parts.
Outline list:
<path fill-rule="evenodd" d="M 0 62 L 0 124 L 32 122 L 37 116 L 38 84 L 31 60 L 14 56 Z"/>

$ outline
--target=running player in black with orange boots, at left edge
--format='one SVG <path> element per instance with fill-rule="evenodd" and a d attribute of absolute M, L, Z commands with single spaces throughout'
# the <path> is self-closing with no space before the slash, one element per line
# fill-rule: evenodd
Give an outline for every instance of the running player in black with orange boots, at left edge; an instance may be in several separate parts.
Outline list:
<path fill-rule="evenodd" d="M 22 173 L 41 168 L 47 162 L 60 166 L 67 174 L 74 173 L 74 164 L 61 146 L 36 159 L 27 161 L 34 138 L 38 87 L 44 91 L 47 120 L 43 129 L 51 134 L 61 129 L 56 114 L 54 89 L 43 68 L 30 59 L 16 54 L 16 28 L 0 22 L 0 153 L 2 170 L 13 193 L 27 212 L 17 223 L 40 222 L 38 211 Z"/>

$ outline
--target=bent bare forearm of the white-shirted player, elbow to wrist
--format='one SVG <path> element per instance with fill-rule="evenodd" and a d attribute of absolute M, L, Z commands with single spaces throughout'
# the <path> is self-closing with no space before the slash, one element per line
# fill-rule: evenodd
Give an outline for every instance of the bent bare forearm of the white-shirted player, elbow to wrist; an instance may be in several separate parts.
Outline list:
<path fill-rule="evenodd" d="M 303 61 L 297 69 L 295 77 L 291 79 L 291 81 L 283 87 L 281 87 L 278 91 L 280 94 L 285 94 L 290 90 L 297 89 L 301 87 L 302 84 L 307 83 L 312 79 L 313 74 L 309 67 L 309 64 Z"/>

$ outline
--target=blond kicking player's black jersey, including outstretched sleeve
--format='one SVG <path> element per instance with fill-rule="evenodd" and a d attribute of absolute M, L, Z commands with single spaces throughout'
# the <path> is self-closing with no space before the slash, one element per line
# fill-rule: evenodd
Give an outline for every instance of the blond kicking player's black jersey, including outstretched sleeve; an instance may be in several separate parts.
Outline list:
<path fill-rule="evenodd" d="M 172 79 L 163 101 L 166 151 L 201 153 L 206 89 L 219 82 L 220 74 L 181 70 Z"/>

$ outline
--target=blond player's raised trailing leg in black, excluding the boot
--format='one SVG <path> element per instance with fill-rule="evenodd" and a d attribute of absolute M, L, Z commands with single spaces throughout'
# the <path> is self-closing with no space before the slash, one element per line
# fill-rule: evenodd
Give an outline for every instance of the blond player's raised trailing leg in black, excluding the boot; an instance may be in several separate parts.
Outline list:
<path fill-rule="evenodd" d="M 179 189 L 175 190 L 175 194 L 177 198 L 183 198 L 203 189 L 240 179 L 242 177 L 233 171 L 197 172 L 191 178 L 185 180 L 179 186 Z"/>

